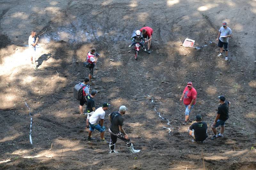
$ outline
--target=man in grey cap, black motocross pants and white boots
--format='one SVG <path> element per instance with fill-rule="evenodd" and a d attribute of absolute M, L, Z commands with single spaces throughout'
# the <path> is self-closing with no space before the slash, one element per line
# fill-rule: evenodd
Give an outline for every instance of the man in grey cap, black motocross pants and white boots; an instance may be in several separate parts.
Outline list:
<path fill-rule="evenodd" d="M 125 133 L 123 129 L 124 119 L 122 116 L 125 114 L 126 110 L 127 109 L 125 106 L 120 106 L 118 112 L 116 111 L 108 115 L 109 120 L 111 122 L 108 128 L 108 131 L 110 132 L 110 137 L 111 137 L 110 143 L 109 143 L 109 148 L 110 148 L 109 153 L 118 153 L 115 151 L 117 137 L 126 143 L 126 146 L 128 147 L 131 153 L 140 152 L 140 150 L 133 149 L 131 139 L 128 137 L 128 135 Z"/>

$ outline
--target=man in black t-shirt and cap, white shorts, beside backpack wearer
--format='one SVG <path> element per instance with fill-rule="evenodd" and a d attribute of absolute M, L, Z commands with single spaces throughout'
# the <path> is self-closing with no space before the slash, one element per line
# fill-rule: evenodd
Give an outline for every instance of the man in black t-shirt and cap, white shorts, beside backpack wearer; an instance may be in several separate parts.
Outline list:
<path fill-rule="evenodd" d="M 86 106 L 86 113 L 87 113 L 87 119 L 86 119 L 86 128 L 90 128 L 89 126 L 89 118 L 90 116 L 93 114 L 93 112 L 96 110 L 95 109 L 95 102 L 94 102 L 94 97 L 96 96 L 97 91 L 96 90 L 92 90 L 91 94 L 89 94 L 86 97 L 87 100 L 87 106 Z"/>

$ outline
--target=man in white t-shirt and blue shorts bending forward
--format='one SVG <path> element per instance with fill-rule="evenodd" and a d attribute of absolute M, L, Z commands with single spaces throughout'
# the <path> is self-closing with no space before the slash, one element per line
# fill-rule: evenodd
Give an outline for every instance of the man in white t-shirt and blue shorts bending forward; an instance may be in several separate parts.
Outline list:
<path fill-rule="evenodd" d="M 101 144 L 109 144 L 108 141 L 104 138 L 105 133 L 105 126 L 103 126 L 104 117 L 105 117 L 105 110 L 108 110 L 109 104 L 104 102 L 102 104 L 102 107 L 99 107 L 95 110 L 95 112 L 90 116 L 89 118 L 89 124 L 90 124 L 90 130 L 88 133 L 88 140 L 94 140 L 95 138 L 92 138 L 92 132 L 94 129 L 98 130 L 100 132 L 100 143 Z M 99 123 L 98 123 L 99 122 Z"/>

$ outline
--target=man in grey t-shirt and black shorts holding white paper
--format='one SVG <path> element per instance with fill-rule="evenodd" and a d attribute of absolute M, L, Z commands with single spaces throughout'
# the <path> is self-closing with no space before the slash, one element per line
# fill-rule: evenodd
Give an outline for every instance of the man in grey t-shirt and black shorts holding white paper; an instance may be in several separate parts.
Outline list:
<path fill-rule="evenodd" d="M 218 57 L 223 55 L 223 45 L 224 45 L 225 55 L 226 55 L 225 61 L 228 61 L 228 37 L 231 37 L 231 35 L 232 35 L 232 31 L 228 27 L 227 22 L 223 22 L 222 26 L 220 27 L 216 41 L 219 41 L 218 47 L 220 47 L 220 54 L 218 55 Z"/>

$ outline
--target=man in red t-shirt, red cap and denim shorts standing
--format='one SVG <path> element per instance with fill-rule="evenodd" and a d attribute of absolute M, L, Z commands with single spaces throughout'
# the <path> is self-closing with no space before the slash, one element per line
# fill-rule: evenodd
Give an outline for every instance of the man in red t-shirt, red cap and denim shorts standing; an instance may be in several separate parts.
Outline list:
<path fill-rule="evenodd" d="M 180 102 L 183 100 L 183 103 L 186 107 L 185 122 L 183 123 L 183 125 L 187 125 L 188 121 L 190 121 L 189 114 L 192 108 L 194 107 L 194 105 L 196 104 L 196 96 L 197 96 L 196 89 L 193 87 L 192 82 L 188 82 L 180 98 Z"/>

